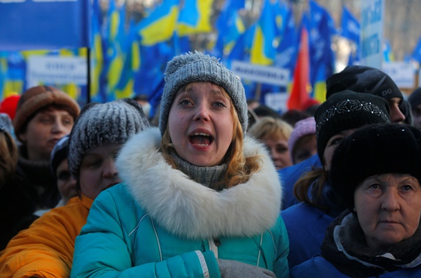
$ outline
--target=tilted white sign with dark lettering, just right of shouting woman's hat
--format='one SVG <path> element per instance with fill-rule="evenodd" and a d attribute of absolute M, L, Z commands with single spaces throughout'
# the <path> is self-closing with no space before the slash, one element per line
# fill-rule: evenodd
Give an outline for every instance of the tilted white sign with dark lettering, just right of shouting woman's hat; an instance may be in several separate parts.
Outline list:
<path fill-rule="evenodd" d="M 280 67 L 269 67 L 263 65 L 253 65 L 241 61 L 233 61 L 231 70 L 235 75 L 260 83 L 286 86 L 289 82 L 289 69 Z"/>

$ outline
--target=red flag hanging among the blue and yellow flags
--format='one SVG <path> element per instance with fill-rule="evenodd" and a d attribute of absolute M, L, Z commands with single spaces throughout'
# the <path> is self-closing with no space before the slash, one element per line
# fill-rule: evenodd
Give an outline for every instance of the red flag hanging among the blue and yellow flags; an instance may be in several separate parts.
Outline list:
<path fill-rule="evenodd" d="M 293 89 L 291 89 L 291 95 L 287 103 L 288 109 L 304 109 L 304 104 L 310 98 L 310 86 L 309 34 L 303 27 L 301 28 L 297 65 L 294 69 Z"/>

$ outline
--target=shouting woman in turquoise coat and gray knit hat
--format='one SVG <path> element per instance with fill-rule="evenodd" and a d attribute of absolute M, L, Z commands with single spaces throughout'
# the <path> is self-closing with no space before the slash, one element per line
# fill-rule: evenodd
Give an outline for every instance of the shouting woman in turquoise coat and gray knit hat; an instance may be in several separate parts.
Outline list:
<path fill-rule="evenodd" d="M 195 52 L 175 56 L 165 81 L 159 129 L 119 153 L 124 182 L 95 200 L 72 277 L 288 277 L 282 187 L 246 136 L 239 79 Z"/>

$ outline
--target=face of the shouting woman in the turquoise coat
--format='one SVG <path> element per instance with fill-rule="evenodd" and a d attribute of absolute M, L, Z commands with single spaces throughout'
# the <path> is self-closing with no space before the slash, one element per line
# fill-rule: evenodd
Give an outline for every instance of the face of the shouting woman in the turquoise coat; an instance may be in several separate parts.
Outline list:
<path fill-rule="evenodd" d="M 212 83 L 194 83 L 177 92 L 168 130 L 178 156 L 202 167 L 221 164 L 233 140 L 231 109 L 231 100 Z"/>

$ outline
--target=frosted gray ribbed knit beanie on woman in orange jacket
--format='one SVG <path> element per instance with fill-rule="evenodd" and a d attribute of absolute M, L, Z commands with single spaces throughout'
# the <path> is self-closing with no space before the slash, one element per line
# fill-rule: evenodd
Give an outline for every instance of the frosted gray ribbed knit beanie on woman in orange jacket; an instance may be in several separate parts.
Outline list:
<path fill-rule="evenodd" d="M 75 178 L 79 177 L 81 160 L 90 149 L 106 143 L 123 144 L 130 136 L 147 127 L 148 119 L 133 99 L 122 98 L 108 103 L 85 105 L 70 133 L 70 173 Z"/>

